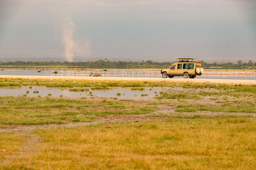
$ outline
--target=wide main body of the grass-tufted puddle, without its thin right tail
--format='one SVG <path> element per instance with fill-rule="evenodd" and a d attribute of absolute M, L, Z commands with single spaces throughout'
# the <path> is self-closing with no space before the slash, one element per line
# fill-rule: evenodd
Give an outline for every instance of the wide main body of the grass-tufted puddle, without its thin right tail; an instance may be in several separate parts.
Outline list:
<path fill-rule="evenodd" d="M 77 88 L 86 89 L 86 88 Z M 88 88 L 87 88 L 88 89 Z M 33 86 L 31 89 L 27 86 L 24 87 L 1 87 L 0 96 L 23 96 L 28 97 L 46 97 L 51 94 L 51 97 L 66 97 L 66 98 L 81 98 L 81 97 L 113 97 L 118 99 L 151 99 L 155 97 L 159 92 L 164 91 L 162 87 L 145 87 L 145 90 L 131 90 L 131 88 L 117 87 L 115 89 L 106 90 L 89 90 L 86 92 L 70 92 L 68 88 L 53 88 L 53 87 L 40 87 Z M 150 90 L 152 89 L 152 90 Z M 38 93 L 35 93 L 38 92 Z M 156 93 L 155 93 L 156 92 Z M 117 94 L 120 94 L 118 96 Z M 141 94 L 147 94 L 147 96 L 141 96 Z"/>

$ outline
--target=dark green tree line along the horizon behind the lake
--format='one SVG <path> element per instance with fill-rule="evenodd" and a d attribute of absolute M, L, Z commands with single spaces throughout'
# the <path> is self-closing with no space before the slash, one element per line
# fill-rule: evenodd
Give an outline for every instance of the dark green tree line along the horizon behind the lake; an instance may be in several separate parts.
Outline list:
<path fill-rule="evenodd" d="M 249 62 L 242 62 L 238 60 L 236 63 L 233 62 L 213 62 L 207 63 L 202 62 L 202 67 L 205 69 L 256 69 L 256 62 L 249 60 Z M 170 67 L 173 62 L 154 62 L 152 60 L 141 61 L 141 62 L 132 62 L 132 61 L 110 61 L 110 60 L 97 60 L 97 61 L 87 61 L 87 62 L 37 62 L 37 61 L 10 61 L 10 62 L 1 62 L 0 67 L 29 67 L 29 66 L 61 66 L 68 68 L 83 68 L 83 69 L 163 69 Z"/>

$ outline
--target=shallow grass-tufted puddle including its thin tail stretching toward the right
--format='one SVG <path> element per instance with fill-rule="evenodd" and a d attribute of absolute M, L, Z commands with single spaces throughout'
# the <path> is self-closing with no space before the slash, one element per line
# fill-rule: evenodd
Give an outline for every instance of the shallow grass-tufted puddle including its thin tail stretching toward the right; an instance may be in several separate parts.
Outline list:
<path fill-rule="evenodd" d="M 161 96 L 160 92 L 220 92 L 216 89 L 186 89 L 182 87 L 115 87 L 113 89 L 91 89 L 88 87 L 44 87 L 44 86 L 22 86 L 22 87 L 0 87 L 0 96 L 28 96 L 28 97 L 65 97 L 65 98 L 90 98 L 106 97 L 117 99 L 152 99 Z"/>

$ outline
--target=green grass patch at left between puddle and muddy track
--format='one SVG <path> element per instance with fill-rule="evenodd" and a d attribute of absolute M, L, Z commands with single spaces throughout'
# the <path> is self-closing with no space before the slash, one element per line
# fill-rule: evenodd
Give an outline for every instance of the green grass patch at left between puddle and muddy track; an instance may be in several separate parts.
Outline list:
<path fill-rule="evenodd" d="M 124 101 L 88 101 L 55 97 L 0 97 L 0 125 L 68 124 L 91 122 L 106 115 L 138 115 L 156 106 Z"/>

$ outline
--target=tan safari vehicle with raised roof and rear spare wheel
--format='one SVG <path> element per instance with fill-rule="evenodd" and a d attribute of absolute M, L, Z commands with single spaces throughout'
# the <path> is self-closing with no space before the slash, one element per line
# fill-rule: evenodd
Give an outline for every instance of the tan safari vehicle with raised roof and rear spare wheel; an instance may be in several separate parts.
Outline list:
<path fill-rule="evenodd" d="M 193 61 L 194 58 L 177 58 L 179 62 L 172 64 L 170 69 L 161 69 L 163 78 L 173 78 L 173 76 L 184 76 L 184 78 L 195 78 L 204 73 L 202 62 Z"/>

